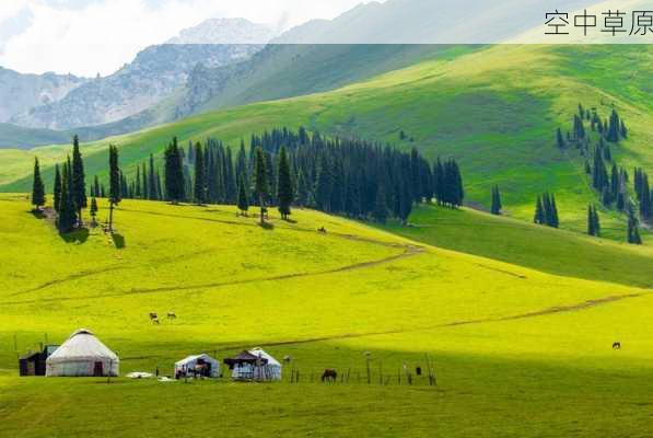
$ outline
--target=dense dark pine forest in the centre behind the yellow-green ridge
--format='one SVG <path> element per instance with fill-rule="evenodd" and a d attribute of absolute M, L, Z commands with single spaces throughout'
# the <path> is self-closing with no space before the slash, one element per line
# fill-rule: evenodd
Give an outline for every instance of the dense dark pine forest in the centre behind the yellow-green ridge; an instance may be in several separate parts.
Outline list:
<path fill-rule="evenodd" d="M 151 158 L 149 171 L 143 165 L 136 181 L 125 184 L 124 197 L 144 198 L 150 193 L 145 185 L 160 185 L 152 163 Z M 235 159 L 219 140 L 189 145 L 185 151 L 173 139 L 163 173 L 163 193 L 148 198 L 277 206 L 283 217 L 295 205 L 381 222 L 388 217 L 406 221 L 415 203 L 435 199 L 457 207 L 465 196 L 454 160 L 439 159 L 431 166 L 417 149 L 405 153 L 362 140 L 327 139 L 304 128 L 254 135 L 248 149 L 241 142 Z"/>

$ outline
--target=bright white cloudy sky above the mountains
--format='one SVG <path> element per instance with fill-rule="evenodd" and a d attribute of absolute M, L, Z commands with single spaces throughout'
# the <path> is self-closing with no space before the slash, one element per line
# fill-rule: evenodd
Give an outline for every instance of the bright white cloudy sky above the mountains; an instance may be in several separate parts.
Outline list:
<path fill-rule="evenodd" d="M 136 54 L 214 18 L 287 30 L 364 0 L 1 0 L 0 66 L 23 73 L 107 76 Z"/>

